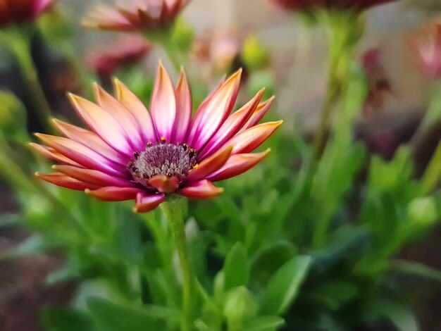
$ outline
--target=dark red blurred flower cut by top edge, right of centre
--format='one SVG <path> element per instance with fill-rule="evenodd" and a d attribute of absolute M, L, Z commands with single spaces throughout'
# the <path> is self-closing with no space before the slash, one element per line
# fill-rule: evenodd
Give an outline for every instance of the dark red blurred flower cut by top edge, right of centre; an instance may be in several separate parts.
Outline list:
<path fill-rule="evenodd" d="M 274 4 L 290 11 L 313 11 L 318 8 L 364 11 L 392 1 L 397 0 L 271 0 Z"/>

